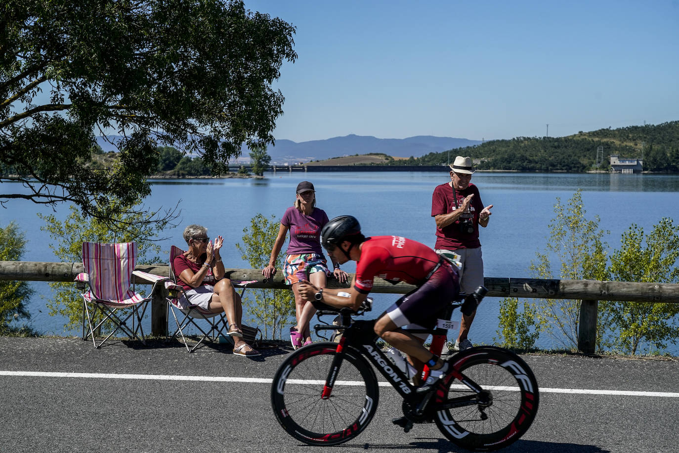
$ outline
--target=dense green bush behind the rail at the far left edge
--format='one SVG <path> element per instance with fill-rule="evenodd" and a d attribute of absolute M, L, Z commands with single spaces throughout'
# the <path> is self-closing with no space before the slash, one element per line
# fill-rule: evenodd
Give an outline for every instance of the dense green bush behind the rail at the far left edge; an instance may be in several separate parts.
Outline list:
<path fill-rule="evenodd" d="M 16 223 L 10 222 L 5 228 L 0 228 L 0 261 L 19 261 L 26 242 L 26 235 Z M 16 328 L 10 327 L 12 321 L 31 319 L 24 303 L 33 292 L 28 282 L 0 280 L 0 333 L 16 331 Z"/>

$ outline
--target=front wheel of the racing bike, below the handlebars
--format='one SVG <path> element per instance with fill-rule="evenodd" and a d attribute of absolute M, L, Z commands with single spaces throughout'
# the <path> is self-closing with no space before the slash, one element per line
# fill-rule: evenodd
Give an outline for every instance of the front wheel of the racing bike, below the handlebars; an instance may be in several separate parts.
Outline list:
<path fill-rule="evenodd" d="M 310 445 L 331 446 L 353 439 L 377 409 L 375 372 L 350 347 L 344 348 L 330 397 L 321 398 L 336 349 L 337 344 L 331 342 L 304 346 L 274 376 L 271 403 L 276 419 L 291 436 Z"/>

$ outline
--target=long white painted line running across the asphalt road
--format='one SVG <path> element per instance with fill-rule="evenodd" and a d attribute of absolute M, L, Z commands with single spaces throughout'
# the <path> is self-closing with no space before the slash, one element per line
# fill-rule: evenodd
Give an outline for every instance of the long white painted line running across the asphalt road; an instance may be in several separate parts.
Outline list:
<path fill-rule="evenodd" d="M 229 376 L 171 376 L 168 374 L 117 374 L 117 373 L 65 373 L 65 372 L 10 372 L 0 370 L 0 376 L 26 376 L 29 378 L 81 378 L 81 379 L 139 379 L 139 380 L 182 380 L 200 382 L 249 382 L 271 384 L 270 378 L 232 378 Z M 289 380 L 291 384 L 323 384 L 319 380 Z M 337 385 L 359 385 L 360 382 L 338 381 Z M 390 387 L 388 382 L 379 382 L 380 387 Z M 457 384 L 454 388 L 465 388 Z M 518 387 L 490 386 L 491 390 L 519 391 Z M 588 388 L 540 388 L 540 393 L 570 393 L 580 395 L 613 395 L 628 397 L 679 398 L 679 392 L 647 392 L 625 390 L 594 390 Z"/>

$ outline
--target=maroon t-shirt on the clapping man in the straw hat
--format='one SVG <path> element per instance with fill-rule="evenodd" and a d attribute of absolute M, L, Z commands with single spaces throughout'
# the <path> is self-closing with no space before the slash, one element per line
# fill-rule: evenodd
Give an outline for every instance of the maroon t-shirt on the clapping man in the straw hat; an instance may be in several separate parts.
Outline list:
<path fill-rule="evenodd" d="M 483 202 L 481 202 L 479 189 L 472 183 L 469 183 L 469 186 L 464 190 L 453 189 L 449 183 L 437 185 L 431 197 L 431 216 L 436 217 L 439 214 L 452 213 L 457 207 L 462 206 L 464 198 L 471 194 L 474 194 L 474 198 L 472 198 L 469 208 L 462 213 L 460 219 L 443 228 L 436 228 L 435 249 L 455 250 L 481 247 L 481 242 L 479 242 L 479 214 L 483 211 Z M 456 197 L 458 206 L 455 206 Z M 474 232 L 461 232 L 461 219 L 472 219 Z"/>

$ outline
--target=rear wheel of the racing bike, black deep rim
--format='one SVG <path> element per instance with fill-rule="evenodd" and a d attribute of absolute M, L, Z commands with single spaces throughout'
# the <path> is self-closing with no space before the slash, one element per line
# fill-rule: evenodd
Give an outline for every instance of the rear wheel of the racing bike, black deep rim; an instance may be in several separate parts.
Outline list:
<path fill-rule="evenodd" d="M 441 433 L 468 450 L 504 448 L 524 435 L 538 410 L 538 383 L 519 356 L 502 348 L 470 348 L 452 359 L 456 369 L 483 388 L 475 395 L 456 379 L 447 385 L 446 401 L 465 397 L 473 404 L 435 414 Z"/>

